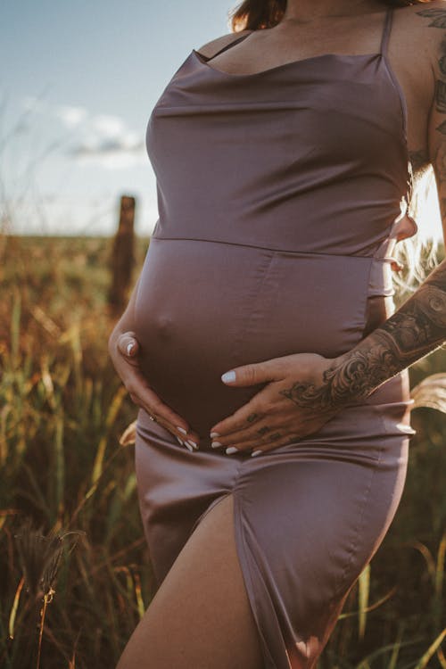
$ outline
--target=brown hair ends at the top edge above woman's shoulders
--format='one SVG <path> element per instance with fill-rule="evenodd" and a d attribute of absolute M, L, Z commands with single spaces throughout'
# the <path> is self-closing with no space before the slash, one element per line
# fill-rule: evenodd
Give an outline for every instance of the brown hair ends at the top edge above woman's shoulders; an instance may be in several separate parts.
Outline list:
<path fill-rule="evenodd" d="M 408 7 L 431 0 L 383 0 L 391 7 Z M 230 24 L 235 32 L 273 28 L 284 16 L 286 0 L 244 0 L 230 12 Z"/>

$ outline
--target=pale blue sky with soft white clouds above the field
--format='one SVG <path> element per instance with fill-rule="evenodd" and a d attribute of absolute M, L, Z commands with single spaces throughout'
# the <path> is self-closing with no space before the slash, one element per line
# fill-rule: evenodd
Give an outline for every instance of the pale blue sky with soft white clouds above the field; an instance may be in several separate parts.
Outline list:
<path fill-rule="evenodd" d="M 145 129 L 193 48 L 230 32 L 228 0 L 0 4 L 0 222 L 13 234 L 136 234 L 158 218 Z M 436 194 L 421 234 L 441 236 Z M 418 224 L 420 221 L 418 220 Z"/>

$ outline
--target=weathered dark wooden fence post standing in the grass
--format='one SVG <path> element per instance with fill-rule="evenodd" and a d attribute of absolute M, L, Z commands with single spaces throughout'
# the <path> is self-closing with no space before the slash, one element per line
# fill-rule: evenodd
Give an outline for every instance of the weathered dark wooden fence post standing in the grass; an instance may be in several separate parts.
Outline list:
<path fill-rule="evenodd" d="M 114 312 L 127 306 L 128 288 L 135 262 L 135 198 L 120 198 L 120 223 L 111 252 L 111 286 L 109 304 Z"/>

